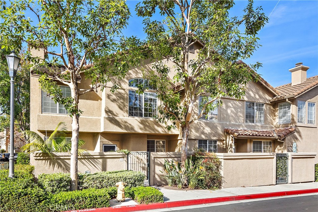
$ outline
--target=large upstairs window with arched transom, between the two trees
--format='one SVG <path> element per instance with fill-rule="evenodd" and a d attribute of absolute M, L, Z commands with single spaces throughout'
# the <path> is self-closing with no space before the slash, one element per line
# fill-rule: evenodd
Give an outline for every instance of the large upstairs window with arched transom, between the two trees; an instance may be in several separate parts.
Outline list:
<path fill-rule="evenodd" d="M 151 89 L 147 79 L 136 78 L 128 82 L 129 87 L 138 88 L 138 85 Z M 150 88 L 149 88 L 150 87 Z M 157 94 L 155 92 L 143 92 L 138 94 L 136 90 L 129 90 L 128 115 L 135 117 L 154 117 L 157 114 Z"/>

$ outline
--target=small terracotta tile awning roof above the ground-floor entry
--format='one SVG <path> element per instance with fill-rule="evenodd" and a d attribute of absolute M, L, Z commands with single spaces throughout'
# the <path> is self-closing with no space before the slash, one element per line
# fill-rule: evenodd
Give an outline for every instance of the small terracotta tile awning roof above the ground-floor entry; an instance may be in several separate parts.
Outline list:
<path fill-rule="evenodd" d="M 232 136 L 258 136 L 282 139 L 295 131 L 295 127 L 275 128 L 273 130 L 251 130 L 251 129 L 235 129 L 224 128 L 224 131 Z"/>

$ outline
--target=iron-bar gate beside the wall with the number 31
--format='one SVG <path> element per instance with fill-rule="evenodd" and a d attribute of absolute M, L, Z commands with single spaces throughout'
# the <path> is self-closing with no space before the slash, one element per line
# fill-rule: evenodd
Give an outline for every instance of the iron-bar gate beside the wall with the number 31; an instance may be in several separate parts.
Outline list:
<path fill-rule="evenodd" d="M 150 173 L 150 152 L 130 152 L 128 153 L 127 170 L 142 172 L 149 180 Z"/>

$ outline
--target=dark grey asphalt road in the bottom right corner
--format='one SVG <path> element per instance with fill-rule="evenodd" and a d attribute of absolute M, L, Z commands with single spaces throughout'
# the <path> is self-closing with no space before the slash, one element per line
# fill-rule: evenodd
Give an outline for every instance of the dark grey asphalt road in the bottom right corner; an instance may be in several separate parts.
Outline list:
<path fill-rule="evenodd" d="M 235 203 L 228 205 L 210 206 L 205 208 L 192 208 L 176 211 L 191 211 L 191 212 L 222 212 L 222 211 L 279 211 L 279 212 L 317 212 L 318 211 L 318 195 L 297 196 L 289 198 L 252 201 L 244 203 Z"/>

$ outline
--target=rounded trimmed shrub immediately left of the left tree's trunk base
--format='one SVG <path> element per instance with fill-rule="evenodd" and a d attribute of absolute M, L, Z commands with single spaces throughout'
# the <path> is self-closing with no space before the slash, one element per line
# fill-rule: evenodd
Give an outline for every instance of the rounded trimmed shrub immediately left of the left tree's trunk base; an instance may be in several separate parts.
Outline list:
<path fill-rule="evenodd" d="M 40 174 L 38 184 L 47 192 L 52 194 L 70 191 L 71 177 L 66 173 Z"/>

